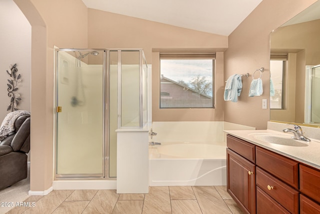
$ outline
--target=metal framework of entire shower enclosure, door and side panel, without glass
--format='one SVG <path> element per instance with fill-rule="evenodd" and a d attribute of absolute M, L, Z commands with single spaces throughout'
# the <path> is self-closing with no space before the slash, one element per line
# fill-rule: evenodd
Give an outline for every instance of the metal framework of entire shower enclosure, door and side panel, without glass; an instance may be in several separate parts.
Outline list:
<path fill-rule="evenodd" d="M 53 170 L 54 170 L 54 180 L 63 180 L 63 179 L 108 179 L 108 180 L 116 180 L 116 177 L 110 177 L 109 176 L 109 145 L 110 145 L 110 62 L 108 57 L 110 56 L 110 51 L 117 51 L 118 53 L 118 59 L 117 59 L 117 111 L 118 111 L 118 118 L 117 118 L 117 128 L 142 128 L 146 122 L 143 121 L 143 112 L 142 112 L 142 106 L 143 106 L 143 98 L 142 98 L 142 72 L 143 72 L 143 62 L 145 63 L 146 69 L 147 69 L 147 63 L 145 60 L 145 56 L 143 53 L 142 48 L 111 48 L 111 49 L 60 49 L 57 47 L 54 47 L 54 124 L 53 124 Z M 75 51 L 103 51 L 103 95 L 102 95 L 102 103 L 103 103 L 103 122 L 102 122 L 102 173 L 100 174 L 57 174 L 56 173 L 56 166 L 57 166 L 57 158 L 56 158 L 56 149 L 57 149 L 57 112 L 55 109 L 57 108 L 58 104 L 58 86 L 57 86 L 57 80 L 58 80 L 58 74 L 57 74 L 57 68 L 58 68 L 58 52 L 75 52 Z M 138 51 L 139 52 L 139 126 L 134 127 L 122 127 L 121 125 L 121 52 L 122 51 Z M 147 72 L 147 71 L 146 71 Z M 146 95 L 147 96 L 147 95 Z M 147 99 L 147 98 L 146 98 Z M 147 105 L 147 103 L 146 103 Z M 147 108 L 147 106 L 146 106 Z M 146 121 L 147 121 L 147 113 L 146 113 Z"/>

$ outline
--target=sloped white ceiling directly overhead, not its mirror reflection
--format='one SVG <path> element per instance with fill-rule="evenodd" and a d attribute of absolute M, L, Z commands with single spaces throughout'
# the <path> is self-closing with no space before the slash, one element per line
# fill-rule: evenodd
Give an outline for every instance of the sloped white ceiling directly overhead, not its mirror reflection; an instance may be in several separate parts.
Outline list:
<path fill-rule="evenodd" d="M 228 36 L 262 0 L 82 0 L 87 8 Z"/>

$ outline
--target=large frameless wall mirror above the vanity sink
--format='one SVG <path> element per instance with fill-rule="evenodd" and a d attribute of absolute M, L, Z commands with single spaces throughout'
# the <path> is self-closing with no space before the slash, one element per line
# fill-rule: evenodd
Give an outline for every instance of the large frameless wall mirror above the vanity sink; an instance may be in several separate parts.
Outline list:
<path fill-rule="evenodd" d="M 281 81 L 276 80 L 278 75 L 272 70 L 274 60 L 283 62 L 283 85 L 279 85 Z M 273 105 L 277 107 L 270 106 L 271 121 L 320 126 L 319 65 L 320 1 L 317 1 L 270 34 L 270 79 L 275 79 L 270 103 L 278 102 Z"/>

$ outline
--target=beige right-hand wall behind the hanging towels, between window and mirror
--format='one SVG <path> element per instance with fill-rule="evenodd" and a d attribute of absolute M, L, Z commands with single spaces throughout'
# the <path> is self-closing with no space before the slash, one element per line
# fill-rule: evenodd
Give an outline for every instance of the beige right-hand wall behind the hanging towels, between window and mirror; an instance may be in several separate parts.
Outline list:
<path fill-rule="evenodd" d="M 254 11 L 229 35 L 224 52 L 224 80 L 236 73 L 249 73 L 242 78 L 238 102 L 224 103 L 224 121 L 265 129 L 269 109 L 262 109 L 262 99 L 269 101 L 269 34 L 272 30 L 310 6 L 315 0 L 263 0 Z M 255 69 L 264 67 L 263 94 L 248 97 Z"/>

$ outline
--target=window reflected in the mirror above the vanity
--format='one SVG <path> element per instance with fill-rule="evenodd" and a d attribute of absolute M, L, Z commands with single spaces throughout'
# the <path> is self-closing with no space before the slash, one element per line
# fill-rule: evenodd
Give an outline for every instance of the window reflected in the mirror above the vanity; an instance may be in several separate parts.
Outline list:
<path fill-rule="evenodd" d="M 273 83 L 273 92 L 272 87 L 270 87 L 270 109 L 283 109 L 283 85 L 284 85 L 284 65 L 286 61 L 286 54 L 280 55 L 278 57 L 275 55 L 270 60 L 270 79 Z M 283 58 L 285 56 L 285 58 Z M 270 82 L 271 83 L 271 82 Z"/>

